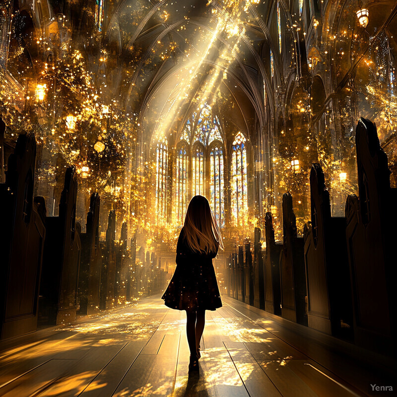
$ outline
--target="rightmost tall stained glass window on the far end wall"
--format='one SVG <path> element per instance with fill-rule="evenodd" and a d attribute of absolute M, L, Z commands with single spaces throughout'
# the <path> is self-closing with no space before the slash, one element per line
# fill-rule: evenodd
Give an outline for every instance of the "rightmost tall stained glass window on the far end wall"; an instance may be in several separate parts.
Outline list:
<path fill-rule="evenodd" d="M 248 218 L 246 139 L 239 132 L 232 145 L 231 210 L 234 226 L 243 226 Z"/>

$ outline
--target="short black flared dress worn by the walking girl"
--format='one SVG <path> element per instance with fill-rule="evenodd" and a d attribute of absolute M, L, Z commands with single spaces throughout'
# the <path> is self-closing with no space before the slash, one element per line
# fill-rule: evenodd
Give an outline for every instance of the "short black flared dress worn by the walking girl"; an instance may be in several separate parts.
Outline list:
<path fill-rule="evenodd" d="M 183 238 L 183 228 L 178 238 L 174 275 L 161 299 L 171 309 L 195 311 L 215 310 L 222 306 L 212 258 L 193 252 Z"/>

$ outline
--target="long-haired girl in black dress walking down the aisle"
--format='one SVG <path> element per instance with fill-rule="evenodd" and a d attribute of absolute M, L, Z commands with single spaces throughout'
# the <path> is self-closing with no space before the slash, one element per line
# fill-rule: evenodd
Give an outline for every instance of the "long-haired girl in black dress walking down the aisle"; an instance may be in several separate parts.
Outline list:
<path fill-rule="evenodd" d="M 212 258 L 223 249 L 222 237 L 208 200 L 191 199 L 177 243 L 174 275 L 162 299 L 172 309 L 186 310 L 190 349 L 189 371 L 199 370 L 205 310 L 222 306 Z"/>

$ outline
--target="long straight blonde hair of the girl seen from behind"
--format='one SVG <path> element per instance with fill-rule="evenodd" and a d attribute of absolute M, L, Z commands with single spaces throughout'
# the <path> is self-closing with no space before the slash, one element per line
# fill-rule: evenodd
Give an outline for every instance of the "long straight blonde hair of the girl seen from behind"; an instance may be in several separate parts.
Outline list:
<path fill-rule="evenodd" d="M 194 252 L 208 254 L 223 249 L 222 236 L 208 200 L 195 196 L 190 200 L 184 223 L 184 237 Z"/>

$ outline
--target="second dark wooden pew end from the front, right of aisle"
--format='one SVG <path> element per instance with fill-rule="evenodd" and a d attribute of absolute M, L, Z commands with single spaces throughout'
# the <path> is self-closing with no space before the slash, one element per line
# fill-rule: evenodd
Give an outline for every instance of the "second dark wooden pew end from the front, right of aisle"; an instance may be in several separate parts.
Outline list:
<path fill-rule="evenodd" d="M 350 274 L 344 217 L 331 217 L 330 194 L 320 164 L 310 172 L 312 221 L 304 229 L 308 325 L 352 337 Z"/>

